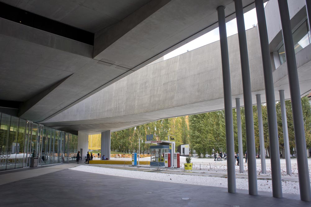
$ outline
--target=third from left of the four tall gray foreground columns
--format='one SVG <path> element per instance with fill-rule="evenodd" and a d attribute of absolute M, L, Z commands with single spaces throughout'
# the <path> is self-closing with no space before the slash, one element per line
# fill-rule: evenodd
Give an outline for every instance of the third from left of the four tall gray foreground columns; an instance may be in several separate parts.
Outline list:
<path fill-rule="evenodd" d="M 255 5 L 258 20 L 259 39 L 261 46 L 263 75 L 265 81 L 266 103 L 268 112 L 272 194 L 273 197 L 281 198 L 283 196 L 283 193 L 281 181 L 279 135 L 277 132 L 275 96 L 274 96 L 273 76 L 272 76 L 268 33 L 267 33 L 267 23 L 265 17 L 265 10 L 263 7 L 263 1 L 255 0 Z"/>

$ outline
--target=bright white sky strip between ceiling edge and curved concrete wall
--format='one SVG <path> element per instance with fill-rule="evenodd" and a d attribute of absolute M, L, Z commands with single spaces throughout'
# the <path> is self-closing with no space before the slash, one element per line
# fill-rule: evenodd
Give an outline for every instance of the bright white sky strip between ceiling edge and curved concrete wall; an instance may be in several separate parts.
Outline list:
<path fill-rule="evenodd" d="M 264 6 L 266 6 L 266 4 L 267 2 L 264 3 Z M 253 25 L 257 26 L 257 15 L 256 15 L 255 8 L 244 13 L 244 22 L 245 22 L 245 30 L 252 28 Z M 227 37 L 238 33 L 238 28 L 236 25 L 236 18 L 226 23 L 226 29 L 227 29 Z M 187 52 L 187 50 L 191 51 L 198 47 L 207 45 L 209 43 L 216 42 L 218 40 L 219 40 L 219 29 L 217 27 L 216 29 L 213 29 L 206 34 L 203 34 L 201 37 L 198 37 L 194 39 L 193 41 L 187 44 L 184 44 L 183 46 L 177 48 L 176 50 L 166 54 L 164 56 L 164 60 L 183 54 Z"/>

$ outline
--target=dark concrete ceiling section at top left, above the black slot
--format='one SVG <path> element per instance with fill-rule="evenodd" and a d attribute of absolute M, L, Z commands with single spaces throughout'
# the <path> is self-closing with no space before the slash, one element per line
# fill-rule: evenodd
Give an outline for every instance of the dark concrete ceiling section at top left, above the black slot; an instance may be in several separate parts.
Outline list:
<path fill-rule="evenodd" d="M 151 0 L 1 0 L 26 11 L 96 33 Z"/>

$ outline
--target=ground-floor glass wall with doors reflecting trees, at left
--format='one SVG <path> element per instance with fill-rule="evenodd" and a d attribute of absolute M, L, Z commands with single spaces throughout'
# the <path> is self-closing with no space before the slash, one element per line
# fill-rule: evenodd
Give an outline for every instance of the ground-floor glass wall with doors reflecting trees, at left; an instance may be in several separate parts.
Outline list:
<path fill-rule="evenodd" d="M 78 136 L 0 113 L 0 171 L 74 161 Z"/>

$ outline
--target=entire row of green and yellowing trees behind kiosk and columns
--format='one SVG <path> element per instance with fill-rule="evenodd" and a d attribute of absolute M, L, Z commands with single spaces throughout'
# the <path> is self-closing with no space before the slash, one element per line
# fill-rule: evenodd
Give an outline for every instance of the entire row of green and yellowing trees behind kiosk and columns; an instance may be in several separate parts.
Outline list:
<path fill-rule="evenodd" d="M 307 147 L 311 147 L 311 110 L 308 97 L 301 99 L 302 109 L 304 115 L 304 128 L 306 135 Z M 294 154 L 295 147 L 294 126 L 291 110 L 291 102 L 285 101 L 286 114 L 288 123 L 288 135 L 290 142 L 291 154 Z M 237 119 L 236 109 L 233 112 L 234 124 L 234 147 L 238 151 L 237 141 Z M 276 103 L 276 115 L 279 132 L 279 144 L 281 154 L 284 156 L 284 140 L 281 117 L 280 102 Z M 258 129 L 258 115 L 257 106 L 253 106 L 254 130 L 255 130 L 255 145 L 259 153 L 259 129 Z M 188 119 L 188 120 L 187 120 Z M 263 132 L 265 140 L 265 150 L 269 154 L 269 132 L 267 107 L 262 105 L 262 119 Z M 243 149 L 246 150 L 246 129 L 244 108 L 241 108 L 241 122 L 242 122 L 242 139 Z M 204 114 L 190 115 L 189 117 L 177 117 L 162 119 L 141 126 L 125 129 L 111 134 L 111 150 L 120 152 L 138 152 L 139 138 L 146 140 L 147 134 L 154 134 L 159 140 L 167 140 L 168 135 L 175 135 L 176 148 L 180 144 L 190 144 L 190 149 L 195 150 L 200 156 L 205 157 L 206 154 L 211 154 L 215 151 L 226 151 L 226 132 L 225 132 L 225 112 L 214 111 Z M 141 153 L 149 152 L 150 144 L 141 143 Z M 175 149 L 177 150 L 177 149 Z"/>

